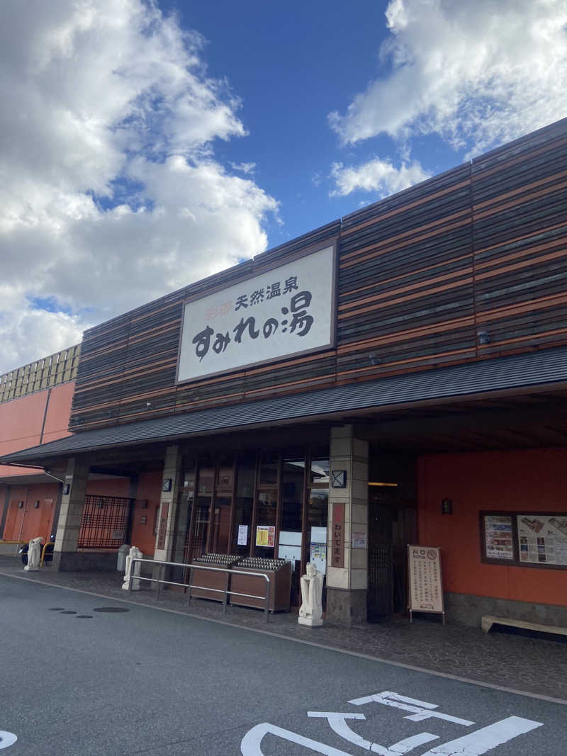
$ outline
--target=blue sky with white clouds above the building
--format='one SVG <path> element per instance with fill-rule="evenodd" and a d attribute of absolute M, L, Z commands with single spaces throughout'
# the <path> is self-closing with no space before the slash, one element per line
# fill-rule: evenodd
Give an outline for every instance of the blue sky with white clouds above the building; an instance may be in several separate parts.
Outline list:
<path fill-rule="evenodd" d="M 567 0 L 2 0 L 0 373 L 567 116 Z"/>

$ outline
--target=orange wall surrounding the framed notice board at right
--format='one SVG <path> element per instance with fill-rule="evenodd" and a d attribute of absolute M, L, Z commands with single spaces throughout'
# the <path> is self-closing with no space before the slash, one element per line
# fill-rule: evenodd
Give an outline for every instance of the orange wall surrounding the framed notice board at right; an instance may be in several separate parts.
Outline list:
<path fill-rule="evenodd" d="M 479 534 L 479 510 L 567 512 L 567 449 L 432 454 L 417 476 L 419 541 L 442 548 L 445 590 L 567 606 L 567 571 L 482 564 Z"/>

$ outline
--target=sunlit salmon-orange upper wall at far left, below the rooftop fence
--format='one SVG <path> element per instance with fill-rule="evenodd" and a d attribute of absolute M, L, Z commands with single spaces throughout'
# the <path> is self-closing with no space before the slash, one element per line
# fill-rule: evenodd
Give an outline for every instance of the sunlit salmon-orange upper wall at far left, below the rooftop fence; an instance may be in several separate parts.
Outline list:
<path fill-rule="evenodd" d="M 57 438 L 64 438 L 67 431 L 71 412 L 71 401 L 75 382 L 54 386 L 0 404 L 0 456 L 11 451 L 27 449 L 39 443 L 48 443 Z M 48 411 L 45 415 L 45 405 Z M 45 427 L 42 425 L 45 415 Z M 11 467 L 0 465 L 0 479 L 2 476 L 26 475 L 29 469 L 25 467 Z"/>

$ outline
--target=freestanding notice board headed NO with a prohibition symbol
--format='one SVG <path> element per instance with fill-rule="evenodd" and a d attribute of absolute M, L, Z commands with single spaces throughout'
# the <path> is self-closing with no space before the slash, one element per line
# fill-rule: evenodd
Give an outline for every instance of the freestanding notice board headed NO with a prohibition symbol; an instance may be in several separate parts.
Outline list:
<path fill-rule="evenodd" d="M 435 546 L 407 547 L 407 574 L 409 576 L 410 612 L 434 612 L 443 615 L 443 583 L 441 576 L 441 549 Z"/>

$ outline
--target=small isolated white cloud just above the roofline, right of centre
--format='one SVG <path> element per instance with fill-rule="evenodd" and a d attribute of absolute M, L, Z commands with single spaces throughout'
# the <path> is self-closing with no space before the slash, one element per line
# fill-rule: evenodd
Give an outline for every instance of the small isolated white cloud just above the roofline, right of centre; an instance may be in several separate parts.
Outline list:
<path fill-rule="evenodd" d="M 331 197 L 342 197 L 357 190 L 376 192 L 379 197 L 386 197 L 424 181 L 429 178 L 429 173 L 415 161 L 409 165 L 402 163 L 395 168 L 389 160 L 376 157 L 356 167 L 345 168 L 342 163 L 333 163 L 331 178 L 336 186 L 330 193 Z"/>

